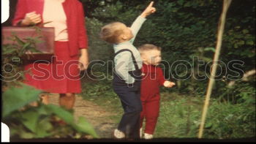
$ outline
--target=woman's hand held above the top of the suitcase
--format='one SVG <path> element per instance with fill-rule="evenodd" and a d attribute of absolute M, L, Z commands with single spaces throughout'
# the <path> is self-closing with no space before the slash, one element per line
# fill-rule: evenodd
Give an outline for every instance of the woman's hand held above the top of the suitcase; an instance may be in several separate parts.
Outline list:
<path fill-rule="evenodd" d="M 26 13 L 25 18 L 21 20 L 20 26 L 29 26 L 31 24 L 37 24 L 42 21 L 41 15 L 36 12 Z"/>

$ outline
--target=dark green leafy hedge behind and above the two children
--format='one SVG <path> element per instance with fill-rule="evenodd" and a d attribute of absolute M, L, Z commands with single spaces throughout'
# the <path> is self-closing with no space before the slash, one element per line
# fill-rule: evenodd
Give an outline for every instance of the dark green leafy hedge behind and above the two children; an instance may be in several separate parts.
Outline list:
<path fill-rule="evenodd" d="M 104 4 L 94 9 L 91 15 L 103 24 L 120 21 L 130 26 L 149 2 L 104 1 Z M 89 1 L 87 1 L 88 3 Z M 246 62 L 242 68 L 244 71 L 255 68 L 254 4 L 255 1 L 252 0 L 232 2 L 227 13 L 220 56 L 220 60 L 225 64 L 233 60 Z M 200 57 L 200 60 L 205 61 L 206 64 L 212 60 L 222 1 L 159 0 L 155 1 L 154 7 L 157 8 L 157 12 L 150 15 L 143 24 L 138 37 L 135 39 L 135 46 L 152 43 L 162 47 L 162 59 L 169 64 L 173 64 L 177 60 L 186 60 L 189 64 L 193 64 L 192 61 L 195 56 Z M 111 49 L 111 47 L 108 48 Z M 108 53 L 108 49 L 102 50 L 101 53 Z M 200 70 L 205 72 L 207 69 L 209 72 L 209 67 L 204 66 Z M 185 69 L 165 70 L 165 73 L 172 77 L 178 77 L 178 75 L 183 75 L 183 72 L 186 72 Z M 178 75 L 176 75 L 176 70 Z M 221 70 L 222 76 L 232 74 L 230 69 Z M 193 72 L 193 69 L 189 68 L 187 71 Z M 186 87 L 186 85 L 187 82 L 181 81 L 181 86 Z M 197 87 L 195 85 L 195 88 Z"/>

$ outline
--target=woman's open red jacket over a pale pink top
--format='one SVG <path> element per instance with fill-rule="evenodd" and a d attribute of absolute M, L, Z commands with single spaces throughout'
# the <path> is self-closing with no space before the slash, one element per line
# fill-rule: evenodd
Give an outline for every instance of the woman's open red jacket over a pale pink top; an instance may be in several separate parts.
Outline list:
<path fill-rule="evenodd" d="M 69 56 L 77 56 L 80 48 L 88 48 L 83 5 L 78 0 L 66 0 L 62 5 L 67 17 Z M 18 0 L 12 25 L 17 26 L 28 12 L 35 11 L 42 17 L 43 6 L 44 0 Z"/>

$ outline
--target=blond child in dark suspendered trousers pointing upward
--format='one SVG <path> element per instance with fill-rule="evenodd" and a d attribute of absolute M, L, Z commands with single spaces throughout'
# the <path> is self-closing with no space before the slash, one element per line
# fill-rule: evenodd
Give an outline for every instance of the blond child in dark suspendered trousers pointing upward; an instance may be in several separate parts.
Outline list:
<path fill-rule="evenodd" d="M 133 45 L 140 27 L 148 15 L 156 11 L 154 2 L 148 5 L 129 28 L 124 23 L 114 22 L 102 27 L 101 38 L 112 43 L 115 50 L 115 70 L 113 90 L 119 96 L 124 115 L 118 128 L 114 131 L 116 138 L 139 138 L 140 111 L 140 79 L 142 61 L 140 53 Z"/>

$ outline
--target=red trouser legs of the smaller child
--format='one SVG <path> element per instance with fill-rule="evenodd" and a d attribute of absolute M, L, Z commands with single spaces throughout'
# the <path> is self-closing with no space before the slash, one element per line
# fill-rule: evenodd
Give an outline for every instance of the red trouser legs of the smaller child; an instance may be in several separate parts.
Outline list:
<path fill-rule="evenodd" d="M 146 119 L 146 126 L 144 132 L 147 134 L 154 134 L 154 129 L 157 125 L 157 118 L 159 116 L 159 94 L 153 99 L 142 99 L 142 112 L 140 113 L 140 128 L 143 126 L 143 120 Z"/>

